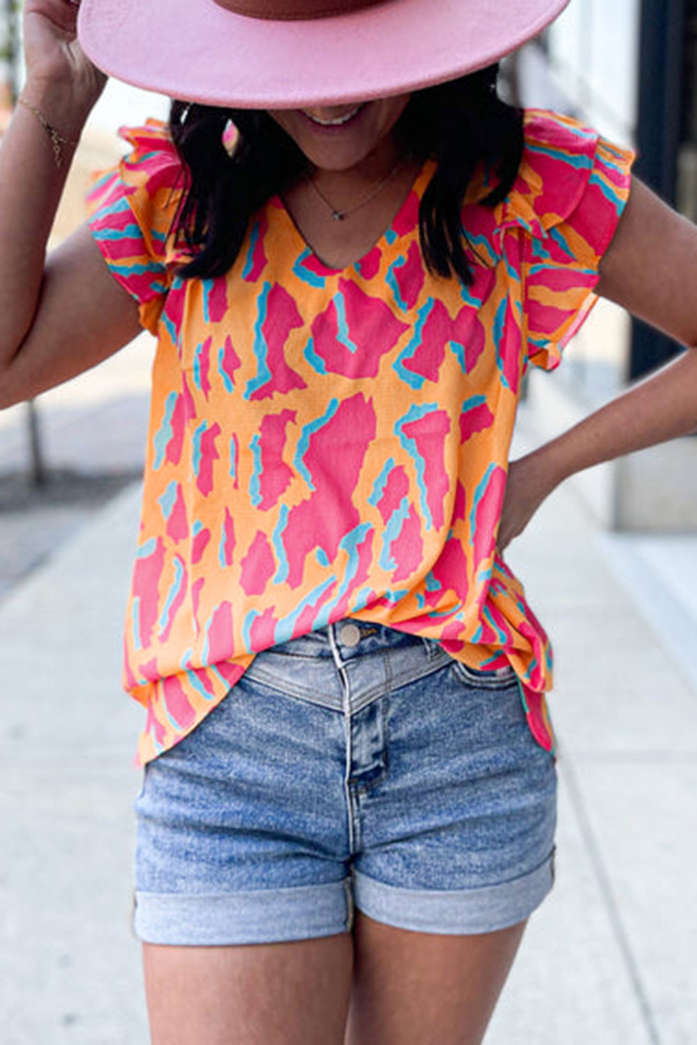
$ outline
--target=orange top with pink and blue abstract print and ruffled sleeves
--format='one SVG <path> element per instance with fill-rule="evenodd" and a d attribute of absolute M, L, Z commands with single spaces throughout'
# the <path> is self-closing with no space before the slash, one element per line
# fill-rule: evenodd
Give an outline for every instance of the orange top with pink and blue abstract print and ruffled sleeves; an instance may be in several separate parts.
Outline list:
<path fill-rule="evenodd" d="M 126 689 L 141 762 L 195 727 L 254 654 L 352 617 L 511 664 L 553 745 L 552 658 L 496 554 L 520 378 L 547 369 L 595 301 L 631 155 L 531 111 L 509 198 L 463 209 L 473 285 L 432 276 L 418 235 L 427 162 L 390 229 L 345 270 L 276 196 L 230 272 L 184 280 L 170 231 L 181 163 L 163 124 L 90 194 L 116 279 L 157 334 Z M 474 253 L 475 252 L 475 253 Z"/>

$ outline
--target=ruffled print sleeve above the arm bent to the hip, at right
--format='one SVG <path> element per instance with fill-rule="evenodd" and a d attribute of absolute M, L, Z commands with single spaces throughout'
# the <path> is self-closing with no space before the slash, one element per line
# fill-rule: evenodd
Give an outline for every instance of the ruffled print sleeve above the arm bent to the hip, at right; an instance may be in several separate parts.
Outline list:
<path fill-rule="evenodd" d="M 600 262 L 629 198 L 634 154 L 576 120 L 526 113 L 526 148 L 504 204 L 521 229 L 528 359 L 553 370 L 593 305 Z"/>

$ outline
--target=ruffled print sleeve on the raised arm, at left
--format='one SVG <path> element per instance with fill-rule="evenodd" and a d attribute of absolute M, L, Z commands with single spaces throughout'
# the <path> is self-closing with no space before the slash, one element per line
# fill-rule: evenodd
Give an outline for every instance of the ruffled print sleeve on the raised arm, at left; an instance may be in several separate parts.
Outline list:
<path fill-rule="evenodd" d="M 95 176 L 89 223 L 112 275 L 138 302 L 142 325 L 156 333 L 175 268 L 185 260 L 172 232 L 182 163 L 159 120 L 119 134 L 131 152 Z"/>

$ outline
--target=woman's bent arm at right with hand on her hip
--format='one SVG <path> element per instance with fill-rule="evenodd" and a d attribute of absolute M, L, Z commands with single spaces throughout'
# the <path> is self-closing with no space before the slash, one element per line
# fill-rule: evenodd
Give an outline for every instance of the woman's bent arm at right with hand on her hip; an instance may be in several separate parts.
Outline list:
<path fill-rule="evenodd" d="M 634 179 L 597 292 L 683 344 L 697 345 L 697 227 Z M 689 351 L 511 464 L 499 550 L 564 479 L 695 429 L 697 351 Z"/>

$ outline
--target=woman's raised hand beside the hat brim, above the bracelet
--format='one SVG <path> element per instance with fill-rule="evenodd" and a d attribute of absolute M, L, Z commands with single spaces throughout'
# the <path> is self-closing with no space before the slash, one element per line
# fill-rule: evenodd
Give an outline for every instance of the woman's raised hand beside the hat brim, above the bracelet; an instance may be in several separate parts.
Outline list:
<path fill-rule="evenodd" d="M 25 0 L 24 57 L 29 90 L 60 89 L 89 111 L 107 77 L 77 41 L 78 7 L 79 0 Z"/>

